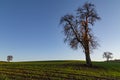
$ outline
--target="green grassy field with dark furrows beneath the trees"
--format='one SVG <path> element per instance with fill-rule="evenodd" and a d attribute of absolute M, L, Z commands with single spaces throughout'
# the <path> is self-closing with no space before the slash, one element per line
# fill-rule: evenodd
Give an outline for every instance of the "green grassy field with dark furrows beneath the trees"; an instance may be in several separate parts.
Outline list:
<path fill-rule="evenodd" d="M 120 80 L 119 62 L 0 62 L 0 80 Z"/>

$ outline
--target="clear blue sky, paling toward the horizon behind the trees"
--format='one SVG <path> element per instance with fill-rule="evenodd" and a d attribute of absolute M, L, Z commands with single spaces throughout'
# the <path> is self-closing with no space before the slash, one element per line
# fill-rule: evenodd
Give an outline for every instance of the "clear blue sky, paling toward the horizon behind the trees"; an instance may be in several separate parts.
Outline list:
<path fill-rule="evenodd" d="M 109 51 L 120 59 L 120 0 L 0 0 L 0 60 L 85 60 L 81 49 L 64 43 L 60 19 L 86 1 L 96 5 L 101 17 L 92 27 L 100 46 L 92 61 L 103 61 Z"/>

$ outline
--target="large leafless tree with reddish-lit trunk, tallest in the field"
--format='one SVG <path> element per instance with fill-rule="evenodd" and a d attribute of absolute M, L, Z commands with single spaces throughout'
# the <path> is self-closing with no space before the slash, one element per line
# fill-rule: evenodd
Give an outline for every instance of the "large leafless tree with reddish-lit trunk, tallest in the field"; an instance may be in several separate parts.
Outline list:
<path fill-rule="evenodd" d="M 64 27 L 65 42 L 73 49 L 83 49 L 88 66 L 92 66 L 90 52 L 98 45 L 90 26 L 99 19 L 94 4 L 86 2 L 77 9 L 76 15 L 67 14 L 60 21 Z"/>

